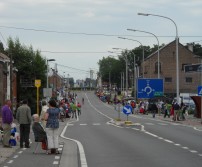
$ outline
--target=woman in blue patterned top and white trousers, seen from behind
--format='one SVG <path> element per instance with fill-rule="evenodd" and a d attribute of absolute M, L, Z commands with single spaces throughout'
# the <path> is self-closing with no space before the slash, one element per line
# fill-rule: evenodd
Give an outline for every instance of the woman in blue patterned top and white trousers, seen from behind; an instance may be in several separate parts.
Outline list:
<path fill-rule="evenodd" d="M 46 123 L 46 134 L 48 139 L 48 150 L 47 154 L 51 154 L 52 150 L 55 150 L 56 154 L 59 154 L 59 117 L 60 109 L 57 108 L 57 103 L 55 100 L 51 99 L 49 101 L 49 109 L 46 112 L 45 120 Z"/>

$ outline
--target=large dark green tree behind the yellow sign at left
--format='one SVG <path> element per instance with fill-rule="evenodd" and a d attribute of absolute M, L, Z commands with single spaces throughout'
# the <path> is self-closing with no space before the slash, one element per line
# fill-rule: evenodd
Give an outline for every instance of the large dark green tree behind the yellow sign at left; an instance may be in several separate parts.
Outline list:
<path fill-rule="evenodd" d="M 7 55 L 14 61 L 17 68 L 17 101 L 28 99 L 32 112 L 36 111 L 35 79 L 41 80 L 41 88 L 46 85 L 46 60 L 40 51 L 34 51 L 32 46 L 22 45 L 18 38 L 8 39 Z M 42 89 L 40 89 L 42 97 Z"/>

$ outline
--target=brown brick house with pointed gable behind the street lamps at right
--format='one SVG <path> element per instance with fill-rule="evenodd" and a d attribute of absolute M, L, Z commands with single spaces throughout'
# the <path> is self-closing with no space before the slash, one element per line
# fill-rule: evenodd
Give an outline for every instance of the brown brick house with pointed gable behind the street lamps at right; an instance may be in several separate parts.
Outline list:
<path fill-rule="evenodd" d="M 200 63 L 200 58 L 194 55 L 193 48 L 187 49 L 178 44 L 179 51 L 179 92 L 197 93 L 201 84 L 200 72 L 184 72 L 184 65 Z M 164 79 L 164 93 L 176 96 L 176 41 L 159 49 L 160 78 Z M 158 78 L 158 52 L 149 55 L 144 65 L 144 78 Z M 142 65 L 141 65 L 142 66 Z M 142 69 L 142 68 L 141 68 Z"/>

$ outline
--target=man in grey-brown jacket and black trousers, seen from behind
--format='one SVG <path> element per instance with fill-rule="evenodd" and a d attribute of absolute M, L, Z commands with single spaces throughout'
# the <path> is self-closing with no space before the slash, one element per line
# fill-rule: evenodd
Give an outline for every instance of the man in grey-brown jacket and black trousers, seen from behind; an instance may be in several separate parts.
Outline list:
<path fill-rule="evenodd" d="M 31 117 L 31 109 L 27 105 L 27 100 L 23 100 L 23 104 L 20 107 L 18 107 L 16 113 L 16 119 L 20 124 L 20 148 L 23 148 L 24 142 L 25 142 L 25 148 L 30 148 L 29 134 L 32 117 Z"/>

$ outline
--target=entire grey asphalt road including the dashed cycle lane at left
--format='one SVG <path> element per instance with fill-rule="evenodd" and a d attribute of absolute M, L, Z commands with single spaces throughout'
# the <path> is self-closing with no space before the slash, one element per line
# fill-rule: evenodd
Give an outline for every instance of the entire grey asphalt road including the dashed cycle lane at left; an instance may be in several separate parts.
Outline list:
<path fill-rule="evenodd" d="M 190 126 L 131 115 L 130 126 L 118 126 L 114 107 L 102 103 L 93 92 L 85 98 L 81 115 L 60 123 L 60 155 L 46 155 L 36 143 L 18 149 L 1 167 L 200 167 L 202 132 Z M 127 117 L 121 114 L 121 119 Z M 67 124 L 66 124 L 67 123 Z M 33 140 L 33 135 L 31 140 Z"/>

